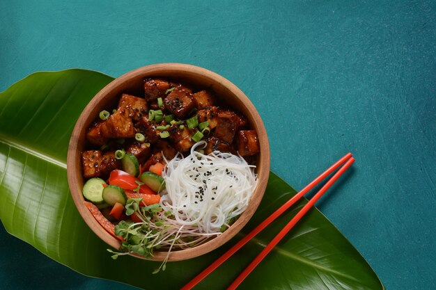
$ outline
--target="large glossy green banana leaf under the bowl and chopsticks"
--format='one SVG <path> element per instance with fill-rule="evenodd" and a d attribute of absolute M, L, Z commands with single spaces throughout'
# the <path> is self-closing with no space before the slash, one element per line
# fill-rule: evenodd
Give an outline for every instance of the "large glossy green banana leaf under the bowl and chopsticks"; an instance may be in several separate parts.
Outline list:
<path fill-rule="evenodd" d="M 0 218 L 6 230 L 73 270 L 143 289 L 178 289 L 283 202 L 293 188 L 271 173 L 250 223 L 221 248 L 187 261 L 113 260 L 81 219 L 68 190 L 70 134 L 88 101 L 113 78 L 89 70 L 37 72 L 0 93 Z M 306 203 L 302 200 L 196 289 L 225 289 Z M 384 289 L 350 242 L 312 209 L 239 289 Z"/>

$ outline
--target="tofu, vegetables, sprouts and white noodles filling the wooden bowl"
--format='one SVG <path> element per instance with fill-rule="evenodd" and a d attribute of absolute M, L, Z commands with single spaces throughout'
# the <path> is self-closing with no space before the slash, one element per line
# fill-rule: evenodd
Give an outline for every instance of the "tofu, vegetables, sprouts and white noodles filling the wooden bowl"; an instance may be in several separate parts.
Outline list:
<path fill-rule="evenodd" d="M 242 214 L 256 188 L 257 133 L 210 88 L 144 79 L 141 95 L 122 93 L 95 116 L 86 139 L 83 195 L 122 241 L 114 257 L 200 245 Z"/>

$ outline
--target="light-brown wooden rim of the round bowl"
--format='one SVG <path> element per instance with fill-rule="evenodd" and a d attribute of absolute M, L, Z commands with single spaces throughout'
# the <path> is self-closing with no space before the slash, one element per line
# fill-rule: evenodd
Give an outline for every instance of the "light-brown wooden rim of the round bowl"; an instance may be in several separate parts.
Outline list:
<path fill-rule="evenodd" d="M 84 110 L 81 112 L 77 122 L 75 124 L 74 129 L 72 130 L 70 143 L 68 146 L 68 156 L 67 156 L 67 175 L 68 175 L 68 185 L 70 186 L 70 193 L 75 202 L 77 210 L 79 214 L 84 219 L 85 223 L 91 230 L 97 234 L 102 241 L 110 245 L 112 248 L 118 249 L 120 247 L 120 241 L 116 239 L 114 236 L 109 234 L 97 220 L 92 216 L 91 212 L 84 205 L 84 197 L 81 193 L 81 188 L 79 184 L 83 184 L 83 177 L 80 177 L 76 174 L 76 172 L 81 172 L 81 162 L 79 158 L 79 138 L 81 132 L 86 130 L 86 127 L 90 122 L 86 122 L 86 119 L 90 119 L 90 116 L 87 115 L 88 111 L 91 111 L 92 108 L 95 108 L 99 104 L 104 103 L 104 98 L 113 90 L 119 89 L 123 87 L 123 84 L 126 81 L 129 81 L 134 78 L 146 78 L 147 76 L 153 76 L 156 74 L 162 75 L 162 70 L 167 71 L 166 74 L 170 72 L 172 74 L 188 74 L 190 76 L 197 76 L 198 78 L 205 79 L 211 81 L 212 83 L 217 83 L 222 88 L 228 91 L 228 94 L 234 95 L 235 99 L 239 99 L 241 104 L 245 106 L 245 109 L 249 111 L 253 120 L 256 122 L 251 122 L 251 126 L 256 129 L 258 134 L 258 140 L 260 145 L 260 156 L 258 158 L 258 164 L 256 165 L 256 170 L 258 174 L 258 184 L 255 188 L 255 191 L 250 199 L 250 206 L 242 213 L 240 218 L 229 227 L 226 232 L 223 234 L 211 239 L 210 241 L 203 243 L 201 245 L 195 246 L 194 248 L 188 248 L 185 250 L 173 250 L 171 251 L 168 261 L 180 261 L 184 259 L 191 259 L 194 257 L 198 257 L 200 255 L 204 255 L 219 246 L 223 245 L 227 241 L 229 241 L 235 234 L 240 232 L 242 227 L 246 225 L 254 215 L 254 212 L 258 208 L 260 201 L 263 198 L 263 194 L 265 193 L 268 177 L 270 175 L 270 145 L 267 138 L 267 133 L 265 126 L 263 124 L 258 111 L 254 107 L 254 104 L 251 103 L 249 98 L 244 95 L 244 92 L 240 90 L 237 86 L 235 86 L 231 81 L 228 81 L 223 76 L 207 70 L 203 67 L 197 67 L 195 65 L 188 65 L 183 63 L 158 63 L 153 65 L 146 65 L 144 67 L 139 67 L 135 70 L 127 72 L 122 76 L 114 79 L 110 83 L 108 83 L 104 88 L 102 88 L 86 105 Z M 169 76 L 168 78 L 171 78 Z M 94 120 L 95 118 L 92 118 Z M 85 127 L 85 128 L 84 128 Z M 78 160 L 79 159 L 79 160 Z M 166 251 L 155 251 L 151 260 L 155 261 L 163 261 L 166 258 Z M 145 257 L 141 257 L 139 255 L 134 255 L 135 257 L 139 257 L 142 259 L 146 259 Z"/>

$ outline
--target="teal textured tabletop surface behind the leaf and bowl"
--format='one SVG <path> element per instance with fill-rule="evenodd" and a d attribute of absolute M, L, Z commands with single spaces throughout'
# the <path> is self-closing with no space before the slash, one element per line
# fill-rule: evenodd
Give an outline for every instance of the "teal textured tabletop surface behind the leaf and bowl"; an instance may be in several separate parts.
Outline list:
<path fill-rule="evenodd" d="M 435 15 L 435 1 L 1 1 L 0 90 L 70 67 L 217 72 L 258 108 L 272 170 L 293 187 L 352 152 L 318 208 L 387 289 L 436 289 Z M 0 228 L 4 289 L 132 289 Z"/>

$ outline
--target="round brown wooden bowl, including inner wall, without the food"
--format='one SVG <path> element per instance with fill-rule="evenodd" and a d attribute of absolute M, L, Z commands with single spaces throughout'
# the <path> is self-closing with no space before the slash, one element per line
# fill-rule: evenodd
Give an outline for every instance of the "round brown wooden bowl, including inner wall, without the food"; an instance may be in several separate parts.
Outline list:
<path fill-rule="evenodd" d="M 243 113 L 251 123 L 251 127 L 256 129 L 258 134 L 260 143 L 260 154 L 258 154 L 256 163 L 258 185 L 247 209 L 224 234 L 194 248 L 173 250 L 169 255 L 169 261 L 190 259 L 210 252 L 226 243 L 226 241 L 240 232 L 242 227 L 244 227 L 251 216 L 253 216 L 260 200 L 262 200 L 263 193 L 265 193 L 268 176 L 270 174 L 270 145 L 268 144 L 267 133 L 263 122 L 248 97 L 233 83 L 214 72 L 193 65 L 162 63 L 132 70 L 132 72 L 127 72 L 127 74 L 111 81 L 111 83 L 102 88 L 102 90 L 91 99 L 91 102 L 89 102 L 88 106 L 86 106 L 81 113 L 79 120 L 77 120 L 75 128 L 72 131 L 67 159 L 68 184 L 70 185 L 71 195 L 76 207 L 93 232 L 95 232 L 100 239 L 111 245 L 111 247 L 118 249 L 120 247 L 120 241 L 102 228 L 84 204 L 84 196 L 81 192 L 81 188 L 83 188 L 84 185 L 81 170 L 81 151 L 84 150 L 84 146 L 86 145 L 86 128 L 95 120 L 95 116 L 104 108 L 116 106 L 123 92 L 130 92 L 132 94 L 136 92 L 138 96 L 143 95 L 143 79 L 147 77 L 176 79 L 181 83 L 189 83 L 199 88 L 212 88 L 221 101 Z M 142 93 L 139 94 L 140 92 Z M 153 260 L 163 261 L 166 254 L 166 252 L 155 251 Z"/>

